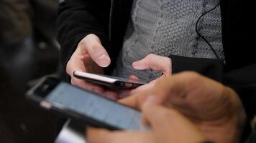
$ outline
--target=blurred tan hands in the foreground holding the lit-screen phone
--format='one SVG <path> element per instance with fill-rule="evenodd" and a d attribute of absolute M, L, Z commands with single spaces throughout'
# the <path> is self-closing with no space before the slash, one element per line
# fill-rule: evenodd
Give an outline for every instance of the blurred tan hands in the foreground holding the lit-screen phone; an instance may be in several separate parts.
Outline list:
<path fill-rule="evenodd" d="M 240 142 L 244 127 L 245 112 L 237 93 L 195 72 L 160 79 L 152 89 L 120 102 L 142 110 L 143 122 L 151 129 L 88 128 L 88 142 Z"/>

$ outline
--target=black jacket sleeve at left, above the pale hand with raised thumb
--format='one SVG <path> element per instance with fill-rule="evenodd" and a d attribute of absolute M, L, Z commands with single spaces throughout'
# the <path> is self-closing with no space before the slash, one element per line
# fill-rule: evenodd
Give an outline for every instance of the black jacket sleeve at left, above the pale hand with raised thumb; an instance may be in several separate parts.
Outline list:
<path fill-rule="evenodd" d="M 96 34 L 109 47 L 108 24 L 111 1 L 65 0 L 58 7 L 60 58 L 66 66 L 76 47 L 88 34 Z"/>

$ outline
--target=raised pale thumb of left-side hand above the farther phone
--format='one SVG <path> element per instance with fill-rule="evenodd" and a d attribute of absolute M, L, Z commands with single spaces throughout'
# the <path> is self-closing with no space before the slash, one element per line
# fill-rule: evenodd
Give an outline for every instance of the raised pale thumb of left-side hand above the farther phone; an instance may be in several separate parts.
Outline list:
<path fill-rule="evenodd" d="M 91 56 L 91 59 L 93 59 L 93 61 L 95 61 L 99 66 L 106 67 L 111 63 L 109 54 L 101 45 L 101 41 L 98 36 L 93 34 L 86 36 L 86 38 L 81 41 L 79 46 L 86 49 L 88 54 Z"/>

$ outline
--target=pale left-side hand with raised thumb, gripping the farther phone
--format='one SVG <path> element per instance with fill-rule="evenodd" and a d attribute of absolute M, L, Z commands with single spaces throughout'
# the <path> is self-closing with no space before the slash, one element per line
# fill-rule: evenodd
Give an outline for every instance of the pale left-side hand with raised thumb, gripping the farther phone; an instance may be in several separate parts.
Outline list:
<path fill-rule="evenodd" d="M 105 91 L 96 84 L 85 82 L 73 77 L 73 71 L 85 71 L 94 74 L 104 74 L 104 67 L 109 66 L 111 59 L 98 36 L 89 34 L 78 44 L 76 51 L 68 61 L 66 71 L 71 77 L 71 84 L 82 87 L 92 92 L 104 94 L 111 99 L 117 99 L 117 94 L 111 91 Z"/>

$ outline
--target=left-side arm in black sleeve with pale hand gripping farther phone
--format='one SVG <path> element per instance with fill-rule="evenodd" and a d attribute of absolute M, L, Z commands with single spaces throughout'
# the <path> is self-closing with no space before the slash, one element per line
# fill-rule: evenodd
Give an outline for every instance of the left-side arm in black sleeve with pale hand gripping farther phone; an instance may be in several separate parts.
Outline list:
<path fill-rule="evenodd" d="M 109 0 L 65 0 L 58 8 L 57 39 L 70 83 L 116 99 L 115 92 L 73 77 L 73 71 L 104 74 L 104 67 L 111 63 L 106 51 L 110 4 Z"/>

